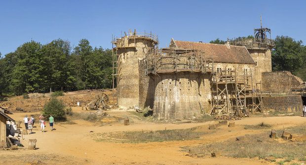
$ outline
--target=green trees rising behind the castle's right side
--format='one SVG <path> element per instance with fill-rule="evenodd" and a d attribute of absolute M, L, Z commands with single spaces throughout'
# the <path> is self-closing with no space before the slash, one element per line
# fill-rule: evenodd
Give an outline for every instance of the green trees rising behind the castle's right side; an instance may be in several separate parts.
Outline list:
<path fill-rule="evenodd" d="M 252 39 L 253 36 L 238 37 Z M 302 40 L 295 40 L 289 36 L 276 36 L 275 47 L 272 49 L 272 71 L 291 71 L 294 75 L 306 81 L 306 46 Z M 209 43 L 225 44 L 220 38 Z"/>

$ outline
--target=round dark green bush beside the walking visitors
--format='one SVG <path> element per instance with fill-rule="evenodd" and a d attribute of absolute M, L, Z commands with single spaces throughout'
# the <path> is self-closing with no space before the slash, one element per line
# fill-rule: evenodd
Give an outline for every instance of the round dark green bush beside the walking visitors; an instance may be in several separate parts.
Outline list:
<path fill-rule="evenodd" d="M 56 121 L 64 121 L 65 118 L 65 104 L 63 100 L 51 98 L 43 107 L 43 114 L 45 117 L 52 115 Z"/>

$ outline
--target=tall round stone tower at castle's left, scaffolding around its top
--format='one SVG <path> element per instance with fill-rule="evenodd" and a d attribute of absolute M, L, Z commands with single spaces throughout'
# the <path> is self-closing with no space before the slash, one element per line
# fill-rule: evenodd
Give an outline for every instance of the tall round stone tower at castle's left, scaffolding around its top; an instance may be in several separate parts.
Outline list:
<path fill-rule="evenodd" d="M 158 44 L 152 33 L 125 33 L 113 40 L 115 44 L 113 72 L 117 83 L 117 103 L 119 106 L 143 105 L 146 100 L 149 77 L 145 75 L 144 58 Z M 115 60 L 114 60 L 115 59 Z M 141 90 L 141 92 L 140 92 Z"/>

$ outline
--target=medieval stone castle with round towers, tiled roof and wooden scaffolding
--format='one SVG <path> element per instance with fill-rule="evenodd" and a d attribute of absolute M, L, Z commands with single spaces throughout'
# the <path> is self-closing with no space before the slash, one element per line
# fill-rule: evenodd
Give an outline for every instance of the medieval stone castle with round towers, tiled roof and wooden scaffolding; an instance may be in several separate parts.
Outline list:
<path fill-rule="evenodd" d="M 268 28 L 255 29 L 254 38 L 226 44 L 172 38 L 162 49 L 152 33 L 135 30 L 114 38 L 117 103 L 149 106 L 153 116 L 165 120 L 264 111 L 262 91 L 269 89 L 263 73 L 271 72 L 274 46 L 268 34 Z M 290 108 L 301 108 L 299 101 Z"/>

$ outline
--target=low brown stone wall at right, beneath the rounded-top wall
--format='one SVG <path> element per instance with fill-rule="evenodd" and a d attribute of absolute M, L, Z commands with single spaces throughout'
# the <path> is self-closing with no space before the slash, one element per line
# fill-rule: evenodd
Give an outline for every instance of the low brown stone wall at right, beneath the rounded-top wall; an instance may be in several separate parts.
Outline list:
<path fill-rule="evenodd" d="M 288 95 L 279 97 L 264 97 L 264 105 L 267 110 L 272 111 L 302 111 L 303 101 L 299 95 Z"/>

